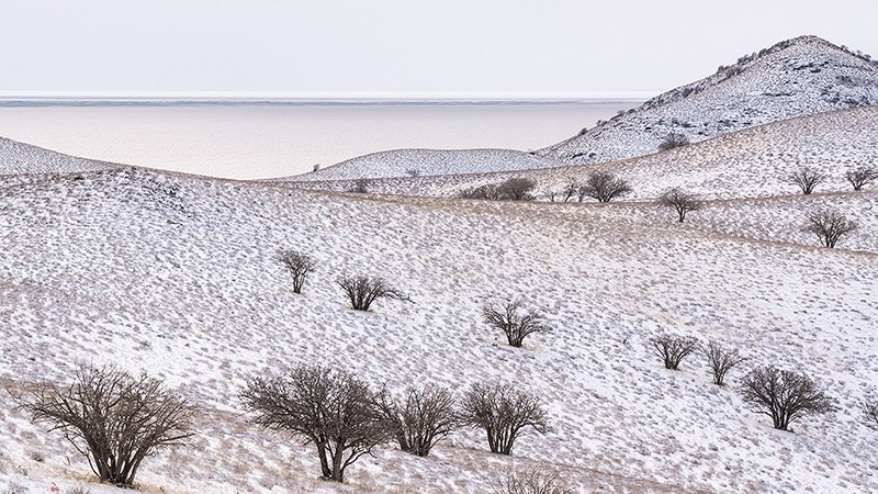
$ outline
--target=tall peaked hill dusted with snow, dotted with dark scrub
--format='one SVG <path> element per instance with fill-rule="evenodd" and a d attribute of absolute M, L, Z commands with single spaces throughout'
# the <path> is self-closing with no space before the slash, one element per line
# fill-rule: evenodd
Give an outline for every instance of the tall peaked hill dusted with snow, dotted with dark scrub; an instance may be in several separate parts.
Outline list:
<path fill-rule="evenodd" d="M 878 61 L 815 36 L 778 43 L 717 74 L 538 151 L 569 164 L 654 153 L 668 133 L 691 142 L 851 106 L 878 104 Z"/>

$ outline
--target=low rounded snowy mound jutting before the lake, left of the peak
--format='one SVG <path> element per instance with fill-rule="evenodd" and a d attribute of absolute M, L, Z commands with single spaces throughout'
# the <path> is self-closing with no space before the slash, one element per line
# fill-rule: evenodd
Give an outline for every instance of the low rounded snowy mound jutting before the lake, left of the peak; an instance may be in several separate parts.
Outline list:
<path fill-rule="evenodd" d="M 513 149 L 394 149 L 348 159 L 288 180 L 356 180 L 360 178 L 477 173 L 556 167 L 560 164 Z M 283 180 L 283 179 L 281 179 Z"/>

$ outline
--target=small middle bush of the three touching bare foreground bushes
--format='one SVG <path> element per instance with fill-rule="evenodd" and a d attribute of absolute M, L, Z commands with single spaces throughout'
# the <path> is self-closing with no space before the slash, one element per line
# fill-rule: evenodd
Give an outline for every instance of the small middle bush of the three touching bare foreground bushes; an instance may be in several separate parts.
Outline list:
<path fill-rule="evenodd" d="M 399 397 L 383 391 L 379 403 L 399 449 L 419 457 L 460 427 L 454 394 L 441 386 L 410 386 Z"/>

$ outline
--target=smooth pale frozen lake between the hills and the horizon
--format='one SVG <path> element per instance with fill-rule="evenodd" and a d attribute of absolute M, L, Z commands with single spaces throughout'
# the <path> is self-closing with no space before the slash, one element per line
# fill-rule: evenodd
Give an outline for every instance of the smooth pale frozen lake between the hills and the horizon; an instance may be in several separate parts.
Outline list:
<path fill-rule="evenodd" d="M 0 136 L 106 161 L 258 179 L 406 147 L 537 149 L 639 104 L 0 102 Z"/>

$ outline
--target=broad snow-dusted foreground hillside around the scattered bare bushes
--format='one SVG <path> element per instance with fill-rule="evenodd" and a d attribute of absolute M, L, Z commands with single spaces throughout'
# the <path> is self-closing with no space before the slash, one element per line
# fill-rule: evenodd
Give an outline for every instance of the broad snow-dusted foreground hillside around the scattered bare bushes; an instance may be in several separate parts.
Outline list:
<path fill-rule="evenodd" d="M 482 493 L 532 464 L 578 492 L 878 490 L 878 433 L 856 416 L 878 382 L 874 192 L 847 202 L 873 216 L 865 237 L 840 243 L 853 251 L 801 245 L 813 240 L 796 229 L 806 201 L 851 194 L 714 201 L 680 226 L 648 202 L 337 194 L 143 170 L 3 180 L 0 379 L 66 382 L 79 361 L 113 362 L 203 409 L 192 447 L 144 463 L 146 492 Z M 280 247 L 320 262 L 303 295 Z M 350 311 L 334 284 L 345 272 L 384 276 L 415 303 Z M 505 346 L 480 307 L 510 296 L 554 333 Z M 720 339 L 747 367 L 806 370 L 842 411 L 776 431 L 735 393 L 743 369 L 725 389 L 700 357 L 664 370 L 648 348 L 661 332 Z M 475 431 L 427 459 L 387 447 L 351 467 L 348 485 L 320 482 L 311 448 L 248 425 L 236 400 L 249 377 L 315 361 L 392 389 L 516 383 L 543 396 L 553 430 L 521 438 L 511 458 Z M 0 485 L 91 482 L 7 398 L 0 428 Z"/>

